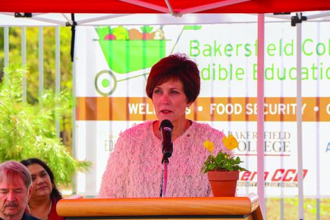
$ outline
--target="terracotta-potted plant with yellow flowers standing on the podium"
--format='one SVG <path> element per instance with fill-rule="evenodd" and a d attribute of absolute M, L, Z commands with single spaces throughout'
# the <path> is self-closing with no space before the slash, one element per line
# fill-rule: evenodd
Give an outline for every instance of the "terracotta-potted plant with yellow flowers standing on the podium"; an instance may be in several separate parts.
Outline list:
<path fill-rule="evenodd" d="M 238 147 L 237 139 L 233 135 L 224 136 L 222 142 L 230 151 Z M 221 150 L 213 155 L 214 143 L 208 140 L 203 145 L 210 155 L 201 167 L 201 172 L 208 174 L 213 196 L 235 196 L 239 171 L 246 171 L 240 167 L 242 160 Z"/>

